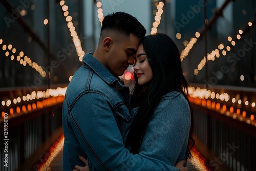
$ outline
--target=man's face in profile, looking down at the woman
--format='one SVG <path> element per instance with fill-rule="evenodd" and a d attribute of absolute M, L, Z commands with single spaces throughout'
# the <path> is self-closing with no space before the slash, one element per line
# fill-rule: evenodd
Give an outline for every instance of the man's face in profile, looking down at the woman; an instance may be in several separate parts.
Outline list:
<path fill-rule="evenodd" d="M 123 36 L 118 41 L 113 41 L 108 60 L 105 61 L 105 67 L 115 76 L 123 75 L 127 67 L 134 63 L 134 54 L 139 42 L 140 39 L 132 33 L 130 37 Z"/>

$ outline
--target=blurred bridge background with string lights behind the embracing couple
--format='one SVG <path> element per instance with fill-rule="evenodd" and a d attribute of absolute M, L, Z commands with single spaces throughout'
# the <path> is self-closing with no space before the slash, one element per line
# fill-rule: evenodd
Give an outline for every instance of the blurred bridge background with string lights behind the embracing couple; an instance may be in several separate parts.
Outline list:
<path fill-rule="evenodd" d="M 103 17 L 117 11 L 180 49 L 201 162 L 194 168 L 256 170 L 255 0 L 1 0 L 1 170 L 54 170 L 66 88 L 96 49 Z M 129 86 L 132 72 L 120 76 Z"/>

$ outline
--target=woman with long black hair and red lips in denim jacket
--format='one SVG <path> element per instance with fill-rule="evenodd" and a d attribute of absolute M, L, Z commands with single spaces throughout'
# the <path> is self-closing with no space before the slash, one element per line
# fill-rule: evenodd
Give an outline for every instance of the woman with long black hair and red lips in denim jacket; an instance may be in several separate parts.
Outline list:
<path fill-rule="evenodd" d="M 174 41 L 165 34 L 144 37 L 135 56 L 134 71 L 134 120 L 126 147 L 133 154 L 183 167 L 178 161 L 191 157 L 195 141 L 191 137 L 193 119 L 185 94 L 188 83 Z"/>

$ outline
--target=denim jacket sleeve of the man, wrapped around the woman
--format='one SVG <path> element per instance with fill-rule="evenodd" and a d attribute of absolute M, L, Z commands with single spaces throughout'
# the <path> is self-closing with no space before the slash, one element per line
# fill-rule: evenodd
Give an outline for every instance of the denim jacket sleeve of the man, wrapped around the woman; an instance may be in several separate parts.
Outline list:
<path fill-rule="evenodd" d="M 96 170 L 179 170 L 124 148 L 113 107 L 103 95 L 84 94 L 74 105 L 70 126 Z"/>

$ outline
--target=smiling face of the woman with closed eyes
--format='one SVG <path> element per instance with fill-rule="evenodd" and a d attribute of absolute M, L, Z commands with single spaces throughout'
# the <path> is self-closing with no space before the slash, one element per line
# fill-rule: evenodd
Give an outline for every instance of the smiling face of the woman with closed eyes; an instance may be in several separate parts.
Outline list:
<path fill-rule="evenodd" d="M 135 55 L 134 71 L 138 76 L 139 85 L 144 85 L 152 80 L 153 74 L 150 64 L 148 63 L 143 45 L 140 44 Z"/>

